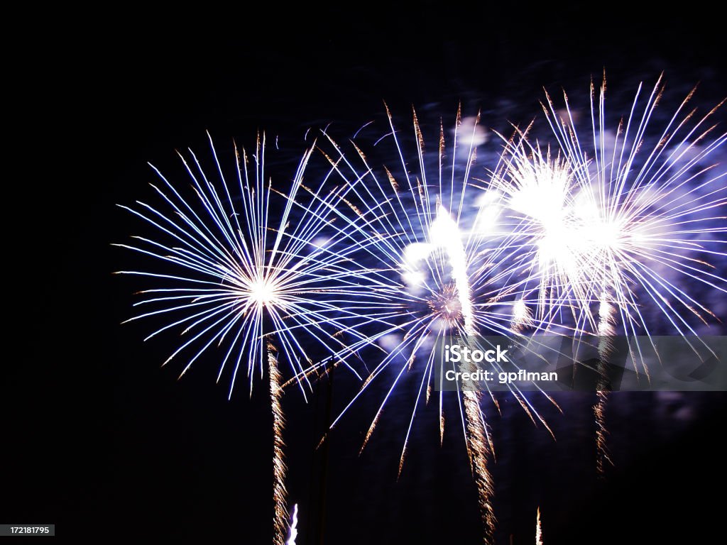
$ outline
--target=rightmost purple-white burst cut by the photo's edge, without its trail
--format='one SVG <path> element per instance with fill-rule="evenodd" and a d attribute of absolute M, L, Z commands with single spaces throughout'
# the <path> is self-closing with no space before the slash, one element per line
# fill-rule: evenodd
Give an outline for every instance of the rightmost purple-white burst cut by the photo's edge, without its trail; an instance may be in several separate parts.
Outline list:
<path fill-rule="evenodd" d="M 661 78 L 646 100 L 641 93 L 639 86 L 630 116 L 609 131 L 606 82 L 598 99 L 592 84 L 589 145 L 579 140 L 570 113 L 558 123 L 550 97 L 544 106 L 574 178 L 569 213 L 584 241 L 579 259 L 590 291 L 585 300 L 599 304 L 601 335 L 611 331 L 611 310 L 618 311 L 613 319 L 628 333 L 651 331 L 639 299 L 656 304 L 678 334 L 697 334 L 683 314 L 702 322 L 713 314 L 678 283 L 727 291 L 727 280 L 710 265 L 725 257 L 720 246 L 727 232 L 727 172 L 715 169 L 714 161 L 727 133 L 715 134 L 710 124 L 717 108 L 701 118 L 696 110 L 686 111 L 690 93 L 656 138 L 650 137 Z M 656 140 L 656 146 L 648 148 L 647 140 Z"/>

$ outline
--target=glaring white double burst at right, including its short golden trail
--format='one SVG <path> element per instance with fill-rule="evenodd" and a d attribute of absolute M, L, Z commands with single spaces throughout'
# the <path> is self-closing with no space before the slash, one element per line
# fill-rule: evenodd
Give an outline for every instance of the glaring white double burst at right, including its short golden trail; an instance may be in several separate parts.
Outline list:
<path fill-rule="evenodd" d="M 720 246 L 727 232 L 727 174 L 713 161 L 727 134 L 715 135 L 710 125 L 716 108 L 701 118 L 696 110 L 686 111 L 689 94 L 652 135 L 650 121 L 662 92 L 659 79 L 642 100 L 639 86 L 630 116 L 611 132 L 605 80 L 598 98 L 592 84 L 592 126 L 585 140 L 567 97 L 567 115 L 561 116 L 547 96 L 543 109 L 558 154 L 531 145 L 520 132 L 517 140 L 507 141 L 492 179 L 510 214 L 525 226 L 518 233 L 530 240 L 521 267 L 539 272 L 539 315 L 569 307 L 574 331 L 599 337 L 601 372 L 616 331 L 630 336 L 654 331 L 657 324 L 643 311 L 648 304 L 677 334 L 696 335 L 688 316 L 706 324 L 705 317 L 713 314 L 688 287 L 727 291 L 727 281 L 710 264 L 725 257 Z M 646 145 L 650 140 L 658 142 L 654 148 Z M 642 347 L 629 342 L 636 371 L 648 376 Z M 594 406 L 599 472 L 608 461 L 606 385 L 601 386 Z"/>

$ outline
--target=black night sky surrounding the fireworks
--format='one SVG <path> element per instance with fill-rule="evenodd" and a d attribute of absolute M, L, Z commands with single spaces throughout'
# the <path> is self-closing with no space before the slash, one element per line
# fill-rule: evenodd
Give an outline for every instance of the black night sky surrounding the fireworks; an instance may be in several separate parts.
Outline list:
<path fill-rule="evenodd" d="M 0 522 L 54 523 L 68 542 L 269 543 L 266 389 L 261 382 L 249 396 L 241 387 L 228 401 L 214 353 L 177 381 L 179 363 L 160 367 L 177 334 L 142 343 L 148 324 L 120 325 L 141 286 L 112 273 L 142 265 L 111 243 L 145 227 L 114 205 L 153 198 L 147 161 L 186 183 L 174 150 L 206 150 L 206 130 L 224 146 L 264 129 L 302 150 L 309 128 L 352 134 L 381 116 L 382 100 L 405 122 L 411 105 L 453 119 L 461 103 L 505 130 L 538 115 L 543 86 L 586 97 L 604 68 L 617 104 L 662 70 L 675 96 L 699 83 L 699 105 L 727 94 L 720 17 L 696 2 L 654 7 L 648 19 L 627 7 L 269 3 L 119 12 L 91 26 L 65 12 L 68 23 L 29 31 L 41 53 L 13 62 L 23 100 L 8 105 L 20 114 L 17 131 L 6 127 L 20 148 L 6 165 L 22 174 L 5 180 L 6 289 L 17 310 L 7 312 L 14 326 L 0 383 Z M 435 407 L 423 411 L 397 480 L 415 391 L 401 393 L 392 408 L 400 403 L 400 416 L 361 456 L 378 399 L 314 451 L 357 387 L 342 371 L 332 392 L 317 384 L 308 405 L 293 390 L 284 399 L 298 544 L 480 542 L 456 421 L 440 448 Z M 726 398 L 614 398 L 616 466 L 605 482 L 592 472 L 590 398 L 561 400 L 567 417 L 541 404 L 557 441 L 503 401 L 490 421 L 501 456 L 498 543 L 532 543 L 537 506 L 546 545 L 707 542 L 720 528 L 724 502 L 704 493 L 726 493 L 716 446 Z"/>

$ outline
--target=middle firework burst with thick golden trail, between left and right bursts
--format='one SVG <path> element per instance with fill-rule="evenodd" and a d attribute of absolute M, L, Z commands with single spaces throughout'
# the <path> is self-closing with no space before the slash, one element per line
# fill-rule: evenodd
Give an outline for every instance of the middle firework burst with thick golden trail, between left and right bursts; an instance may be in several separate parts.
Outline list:
<path fill-rule="evenodd" d="M 376 145 L 392 141 L 398 166 L 377 171 L 358 144 L 354 143 L 353 153 L 348 154 L 328 138 L 332 151 L 327 155 L 347 192 L 346 206 L 338 213 L 348 217 L 348 225 L 356 225 L 349 234 L 352 241 L 359 240 L 352 243 L 358 248 L 356 277 L 361 283 L 361 294 L 354 304 L 359 305 L 362 315 L 369 317 L 357 324 L 362 334 L 365 331 L 365 340 L 353 344 L 350 350 L 358 350 L 364 343 L 378 343 L 385 350 L 332 427 L 372 384 L 382 384 L 388 377 L 390 383 L 366 432 L 363 449 L 398 384 L 406 376 L 415 376 L 418 391 L 399 459 L 401 474 L 417 409 L 429 403 L 433 395 L 435 366 L 441 365 L 436 347 L 445 336 L 456 336 L 469 343 L 476 342 L 475 335 L 485 332 L 515 335 L 516 329 L 542 331 L 548 324 L 529 317 L 527 312 L 527 316 L 521 316 L 523 304 L 527 303 L 522 291 L 526 280 L 509 265 L 511 257 L 519 251 L 518 246 L 513 243 L 513 235 L 502 232 L 490 206 L 497 195 L 480 187 L 471 175 L 475 146 L 482 140 L 477 137 L 477 122 L 469 124 L 467 134 L 463 134 L 458 111 L 451 148 L 446 146 L 440 124 L 437 168 L 432 170 L 414 113 L 412 136 L 419 167 L 414 174 L 407 166 L 405 148 L 388 108 L 386 112 L 390 132 Z M 451 159 L 447 157 L 450 151 Z M 327 365 L 323 361 L 313 369 Z M 481 392 L 472 389 L 459 392 L 457 400 L 489 539 L 494 530 L 488 469 L 492 448 L 481 397 Z M 540 419 L 526 397 L 517 398 L 531 418 Z M 497 405 L 494 397 L 492 400 Z M 438 392 L 438 415 L 443 440 L 443 392 Z"/>

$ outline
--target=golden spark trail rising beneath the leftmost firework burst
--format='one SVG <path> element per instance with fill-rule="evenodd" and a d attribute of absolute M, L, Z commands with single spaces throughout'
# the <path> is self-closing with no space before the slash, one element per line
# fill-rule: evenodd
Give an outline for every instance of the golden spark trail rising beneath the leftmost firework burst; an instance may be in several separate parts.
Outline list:
<path fill-rule="evenodd" d="M 268 376 L 270 378 L 270 408 L 273 411 L 273 544 L 285 545 L 285 536 L 288 526 L 288 512 L 286 501 L 288 492 L 285 488 L 285 465 L 283 442 L 283 429 L 285 417 L 281 406 L 283 389 L 280 384 L 278 371 L 278 358 L 276 347 L 268 344 Z"/>

